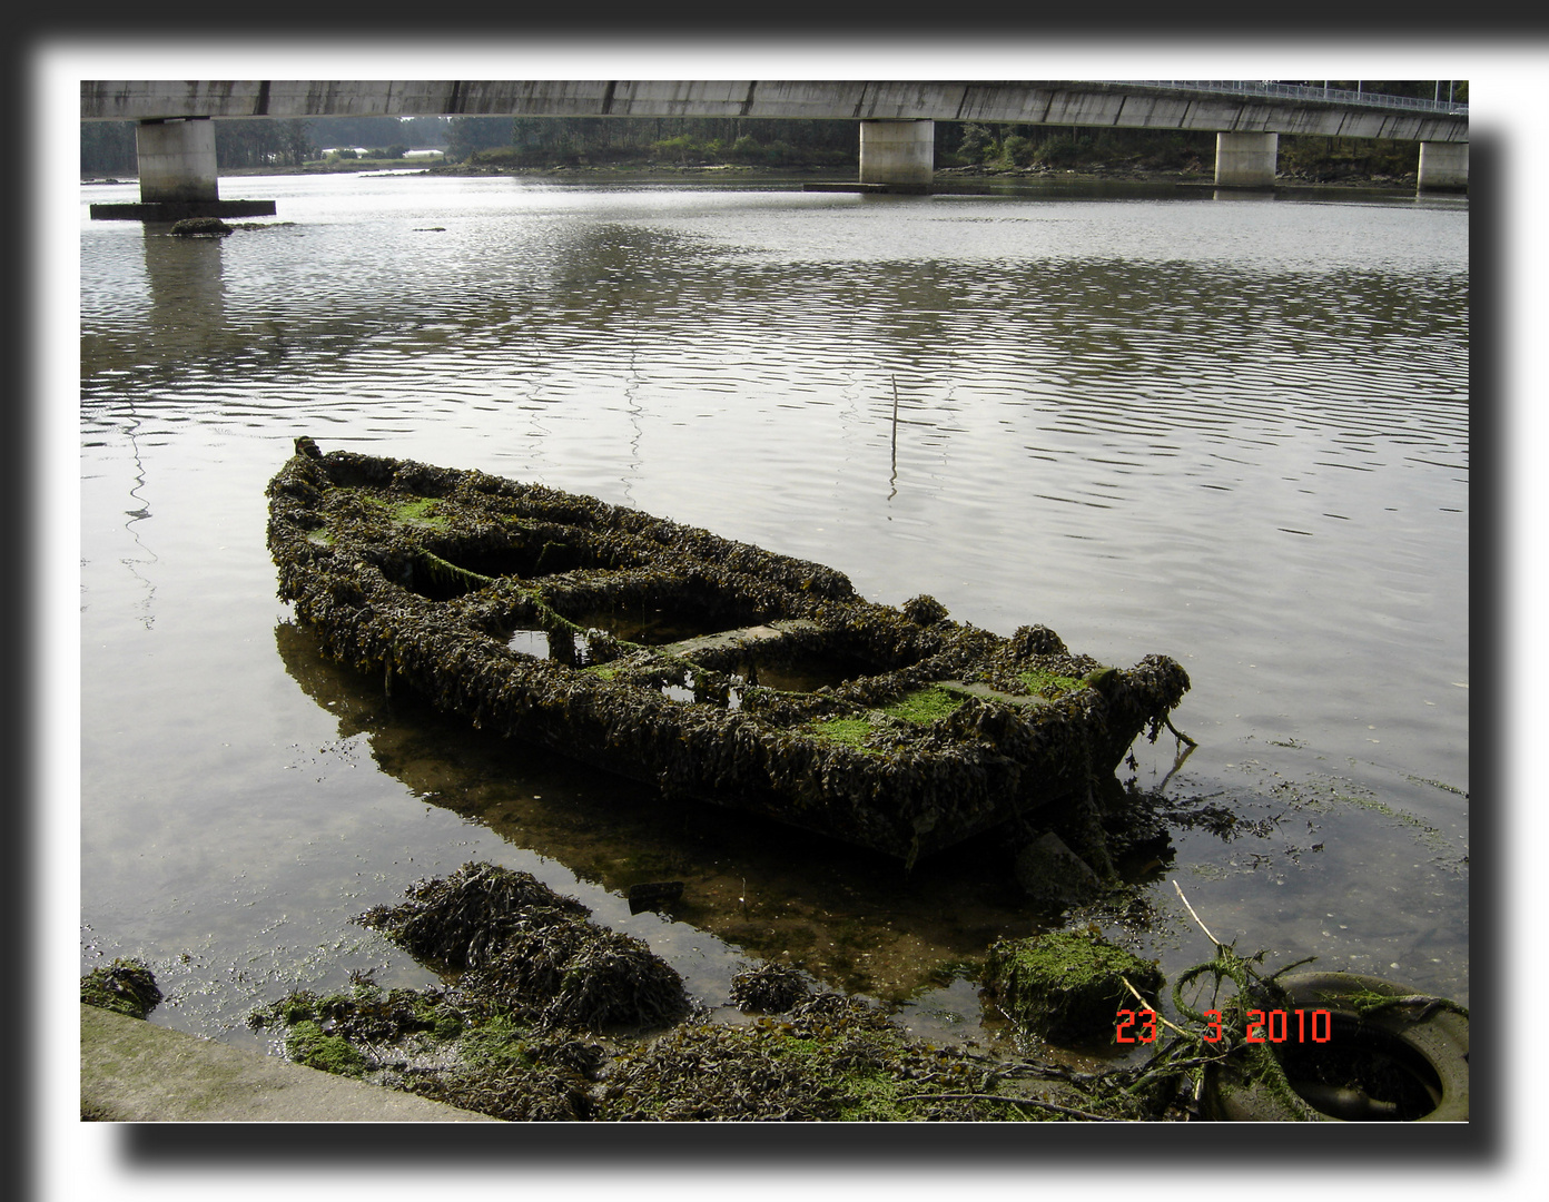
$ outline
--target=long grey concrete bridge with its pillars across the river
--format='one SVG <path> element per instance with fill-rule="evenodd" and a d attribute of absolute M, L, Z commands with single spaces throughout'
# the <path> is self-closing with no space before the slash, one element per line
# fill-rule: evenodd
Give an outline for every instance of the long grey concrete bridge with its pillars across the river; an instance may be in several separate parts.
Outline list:
<path fill-rule="evenodd" d="M 1258 81 L 81 82 L 82 121 L 139 122 L 141 204 L 93 206 L 93 217 L 254 212 L 260 201 L 218 198 L 220 118 L 499 115 L 849 119 L 860 124 L 860 184 L 888 191 L 929 191 L 937 121 L 1210 130 L 1221 187 L 1272 187 L 1281 133 L 1393 138 L 1420 144 L 1420 191 L 1468 183 L 1467 105 Z M 98 212 L 110 208 L 122 212 Z"/>

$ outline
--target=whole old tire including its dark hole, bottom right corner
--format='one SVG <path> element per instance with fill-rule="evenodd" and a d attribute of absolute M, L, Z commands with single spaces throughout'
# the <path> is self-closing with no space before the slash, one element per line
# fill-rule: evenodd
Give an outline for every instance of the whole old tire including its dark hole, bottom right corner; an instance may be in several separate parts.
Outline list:
<path fill-rule="evenodd" d="M 1406 998 L 1413 990 L 1357 973 L 1303 973 L 1278 982 L 1290 1005 L 1329 1011 L 1323 1041 L 1269 1042 L 1298 1098 L 1276 1095 L 1236 1061 L 1205 1073 L 1207 1118 L 1239 1123 L 1468 1121 L 1468 1019 L 1451 1010 L 1396 1005 L 1362 1018 L 1351 998 Z"/>

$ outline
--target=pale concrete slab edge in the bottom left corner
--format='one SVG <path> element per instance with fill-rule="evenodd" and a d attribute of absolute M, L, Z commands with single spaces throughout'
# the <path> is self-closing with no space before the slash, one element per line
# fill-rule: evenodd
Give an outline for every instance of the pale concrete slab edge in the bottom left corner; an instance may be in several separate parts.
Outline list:
<path fill-rule="evenodd" d="M 81 1117 L 121 1123 L 499 1121 L 85 1004 Z"/>

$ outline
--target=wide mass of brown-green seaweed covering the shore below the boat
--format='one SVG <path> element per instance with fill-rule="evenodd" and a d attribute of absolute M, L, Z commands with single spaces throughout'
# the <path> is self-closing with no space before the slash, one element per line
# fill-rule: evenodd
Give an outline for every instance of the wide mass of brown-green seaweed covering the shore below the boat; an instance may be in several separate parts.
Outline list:
<path fill-rule="evenodd" d="M 293 993 L 249 1015 L 294 1061 L 513 1121 L 996 1121 L 1159 1114 L 1050 1064 L 912 1039 L 787 967 L 739 973 L 751 1021 L 708 1022 L 643 943 L 524 872 L 465 864 L 356 922 L 452 977 Z M 1151 1109 L 1143 1109 L 1151 1104 Z"/>

